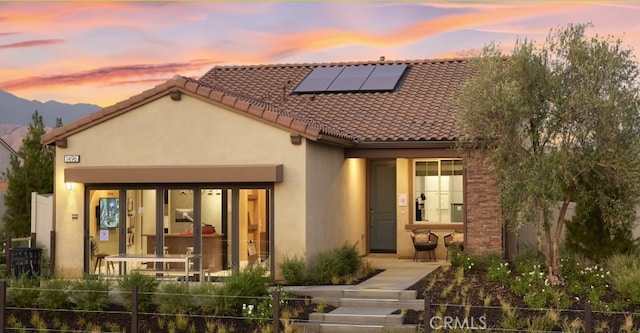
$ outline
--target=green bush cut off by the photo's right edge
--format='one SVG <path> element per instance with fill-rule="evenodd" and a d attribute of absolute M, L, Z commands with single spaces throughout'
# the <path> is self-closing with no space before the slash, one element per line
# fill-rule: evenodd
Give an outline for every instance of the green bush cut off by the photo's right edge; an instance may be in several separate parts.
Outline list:
<path fill-rule="evenodd" d="M 640 304 L 640 257 L 617 254 L 607 261 L 611 286 L 635 304 Z"/>

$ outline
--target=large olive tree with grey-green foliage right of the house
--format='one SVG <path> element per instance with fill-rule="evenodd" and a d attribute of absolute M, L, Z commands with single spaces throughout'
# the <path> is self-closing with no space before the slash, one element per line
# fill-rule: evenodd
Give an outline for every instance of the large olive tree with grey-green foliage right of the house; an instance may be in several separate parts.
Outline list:
<path fill-rule="evenodd" d="M 640 194 L 638 65 L 619 39 L 587 37 L 589 26 L 518 40 L 510 56 L 487 45 L 454 98 L 460 147 L 486 154 L 510 229 L 534 223 L 552 284 L 563 282 L 569 204 L 588 198 L 616 230 L 635 221 Z"/>

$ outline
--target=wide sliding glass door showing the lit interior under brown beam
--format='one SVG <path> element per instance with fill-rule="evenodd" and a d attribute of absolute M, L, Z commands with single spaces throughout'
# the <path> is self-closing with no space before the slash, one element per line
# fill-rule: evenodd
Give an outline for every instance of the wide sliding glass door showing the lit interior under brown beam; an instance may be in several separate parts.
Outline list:
<path fill-rule="evenodd" d="M 88 186 L 91 251 L 86 270 L 104 274 L 96 254 L 194 254 L 194 272 L 227 274 L 232 267 L 272 269 L 272 187 L 148 185 Z M 158 264 L 159 265 L 159 264 Z M 137 267 L 127 267 L 127 269 Z M 144 268 L 144 267 L 142 267 Z M 155 269 L 183 270 L 182 263 Z M 116 273 L 122 267 L 115 267 Z M 124 273 L 124 271 L 122 271 Z"/>

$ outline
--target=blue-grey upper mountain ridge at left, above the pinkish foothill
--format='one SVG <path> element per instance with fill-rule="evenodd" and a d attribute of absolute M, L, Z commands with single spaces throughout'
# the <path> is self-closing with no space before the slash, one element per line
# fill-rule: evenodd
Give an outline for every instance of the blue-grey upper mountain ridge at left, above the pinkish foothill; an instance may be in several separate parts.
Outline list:
<path fill-rule="evenodd" d="M 62 123 L 66 125 L 100 109 L 100 106 L 93 104 L 29 101 L 0 90 L 0 124 L 29 125 L 31 116 L 38 110 L 44 125 L 53 127 L 56 118 L 62 119 Z"/>

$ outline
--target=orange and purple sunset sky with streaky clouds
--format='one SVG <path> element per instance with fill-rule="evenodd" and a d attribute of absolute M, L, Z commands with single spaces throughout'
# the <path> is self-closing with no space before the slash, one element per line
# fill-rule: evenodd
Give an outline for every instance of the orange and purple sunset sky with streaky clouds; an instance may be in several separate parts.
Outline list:
<path fill-rule="evenodd" d="M 0 2 L 0 89 L 109 106 L 216 65 L 460 57 L 592 23 L 640 52 L 640 2 Z"/>

